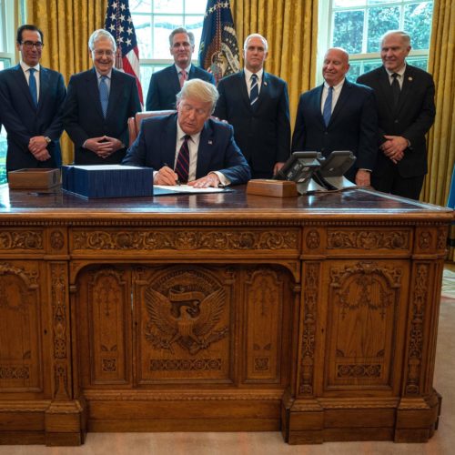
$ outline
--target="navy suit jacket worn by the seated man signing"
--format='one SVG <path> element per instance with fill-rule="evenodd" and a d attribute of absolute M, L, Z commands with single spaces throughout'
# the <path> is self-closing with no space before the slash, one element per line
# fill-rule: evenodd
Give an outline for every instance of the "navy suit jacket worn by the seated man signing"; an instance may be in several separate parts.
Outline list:
<path fill-rule="evenodd" d="M 177 114 L 144 119 L 139 135 L 128 149 L 123 164 L 160 169 L 174 164 L 176 157 Z M 250 170 L 236 142 L 232 126 L 208 119 L 201 131 L 197 150 L 196 177 L 211 171 L 225 175 L 232 185 L 247 183 Z"/>

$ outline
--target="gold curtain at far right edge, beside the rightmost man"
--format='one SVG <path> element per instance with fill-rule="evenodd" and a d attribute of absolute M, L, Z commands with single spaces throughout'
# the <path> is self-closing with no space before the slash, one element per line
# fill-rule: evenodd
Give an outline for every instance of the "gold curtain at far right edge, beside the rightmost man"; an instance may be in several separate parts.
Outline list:
<path fill-rule="evenodd" d="M 435 0 L 429 71 L 436 85 L 436 119 L 429 135 L 429 174 L 423 200 L 445 206 L 455 162 L 455 8 L 453 0 Z M 455 182 L 454 182 L 455 184 Z M 450 229 L 455 245 L 455 225 Z M 455 247 L 449 259 L 455 260 Z"/>

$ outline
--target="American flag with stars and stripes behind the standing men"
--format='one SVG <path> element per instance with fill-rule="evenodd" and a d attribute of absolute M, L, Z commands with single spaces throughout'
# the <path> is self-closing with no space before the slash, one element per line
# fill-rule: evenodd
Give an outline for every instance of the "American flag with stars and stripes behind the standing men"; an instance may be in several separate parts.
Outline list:
<path fill-rule="evenodd" d="M 139 100 L 144 105 L 140 83 L 139 49 L 128 0 L 109 0 L 105 28 L 116 39 L 116 69 L 136 77 Z"/>

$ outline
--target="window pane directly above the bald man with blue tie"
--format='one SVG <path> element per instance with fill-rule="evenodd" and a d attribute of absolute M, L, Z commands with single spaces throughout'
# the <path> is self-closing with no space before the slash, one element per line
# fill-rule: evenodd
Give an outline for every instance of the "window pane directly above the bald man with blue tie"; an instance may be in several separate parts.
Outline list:
<path fill-rule="evenodd" d="M 339 11 L 333 24 L 333 45 L 344 47 L 349 54 L 362 52 L 363 11 Z"/>

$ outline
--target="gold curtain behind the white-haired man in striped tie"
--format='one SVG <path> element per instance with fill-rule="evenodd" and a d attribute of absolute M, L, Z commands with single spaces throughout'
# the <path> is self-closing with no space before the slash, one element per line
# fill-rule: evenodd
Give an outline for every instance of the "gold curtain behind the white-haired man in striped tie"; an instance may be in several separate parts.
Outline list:
<path fill-rule="evenodd" d="M 315 84 L 318 0 L 231 0 L 231 8 L 241 56 L 248 35 L 267 38 L 266 70 L 288 83 L 294 127 L 298 96 Z"/>

